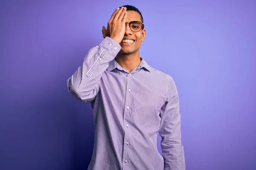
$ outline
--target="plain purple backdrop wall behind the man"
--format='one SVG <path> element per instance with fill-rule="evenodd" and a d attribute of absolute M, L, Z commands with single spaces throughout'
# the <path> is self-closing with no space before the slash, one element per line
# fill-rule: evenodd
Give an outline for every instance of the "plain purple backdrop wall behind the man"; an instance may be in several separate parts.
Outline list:
<path fill-rule="evenodd" d="M 177 84 L 187 170 L 255 170 L 253 0 L 1 1 L 0 170 L 87 169 L 92 109 L 67 79 L 127 2 L 144 17 L 141 57 Z"/>

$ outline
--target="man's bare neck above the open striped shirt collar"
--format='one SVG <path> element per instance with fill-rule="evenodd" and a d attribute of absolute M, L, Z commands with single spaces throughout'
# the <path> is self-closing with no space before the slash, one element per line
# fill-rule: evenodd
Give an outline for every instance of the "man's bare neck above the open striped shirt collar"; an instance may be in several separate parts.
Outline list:
<path fill-rule="evenodd" d="M 138 51 L 137 51 L 138 52 Z M 122 54 L 116 56 L 116 62 L 129 73 L 140 65 L 140 54 Z"/>

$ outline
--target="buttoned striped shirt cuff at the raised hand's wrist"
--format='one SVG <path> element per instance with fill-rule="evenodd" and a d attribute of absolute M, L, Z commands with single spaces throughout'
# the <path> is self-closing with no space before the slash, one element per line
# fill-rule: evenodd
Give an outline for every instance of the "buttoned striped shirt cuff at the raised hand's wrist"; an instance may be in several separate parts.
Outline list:
<path fill-rule="evenodd" d="M 121 46 L 115 40 L 110 37 L 105 37 L 105 39 L 99 44 L 100 46 L 107 48 L 111 53 L 116 56 L 121 50 Z"/>

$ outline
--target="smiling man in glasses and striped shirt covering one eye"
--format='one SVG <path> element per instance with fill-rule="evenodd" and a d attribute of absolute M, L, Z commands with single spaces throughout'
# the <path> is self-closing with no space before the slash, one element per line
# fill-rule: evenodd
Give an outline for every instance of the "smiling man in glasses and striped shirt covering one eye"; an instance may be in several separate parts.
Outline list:
<path fill-rule="evenodd" d="M 140 11 L 117 8 L 102 33 L 104 40 L 67 81 L 68 91 L 93 108 L 88 170 L 185 170 L 177 88 L 140 57 L 146 36 Z"/>

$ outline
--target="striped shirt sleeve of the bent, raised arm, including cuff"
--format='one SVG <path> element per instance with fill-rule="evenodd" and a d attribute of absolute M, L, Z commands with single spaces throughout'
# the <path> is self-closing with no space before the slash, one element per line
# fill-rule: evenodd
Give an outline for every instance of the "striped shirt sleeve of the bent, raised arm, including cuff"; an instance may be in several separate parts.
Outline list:
<path fill-rule="evenodd" d="M 83 64 L 68 78 L 68 91 L 83 102 L 93 101 L 99 92 L 103 72 L 120 49 L 121 46 L 110 37 L 105 37 L 99 45 L 91 48 L 84 57 Z"/>

